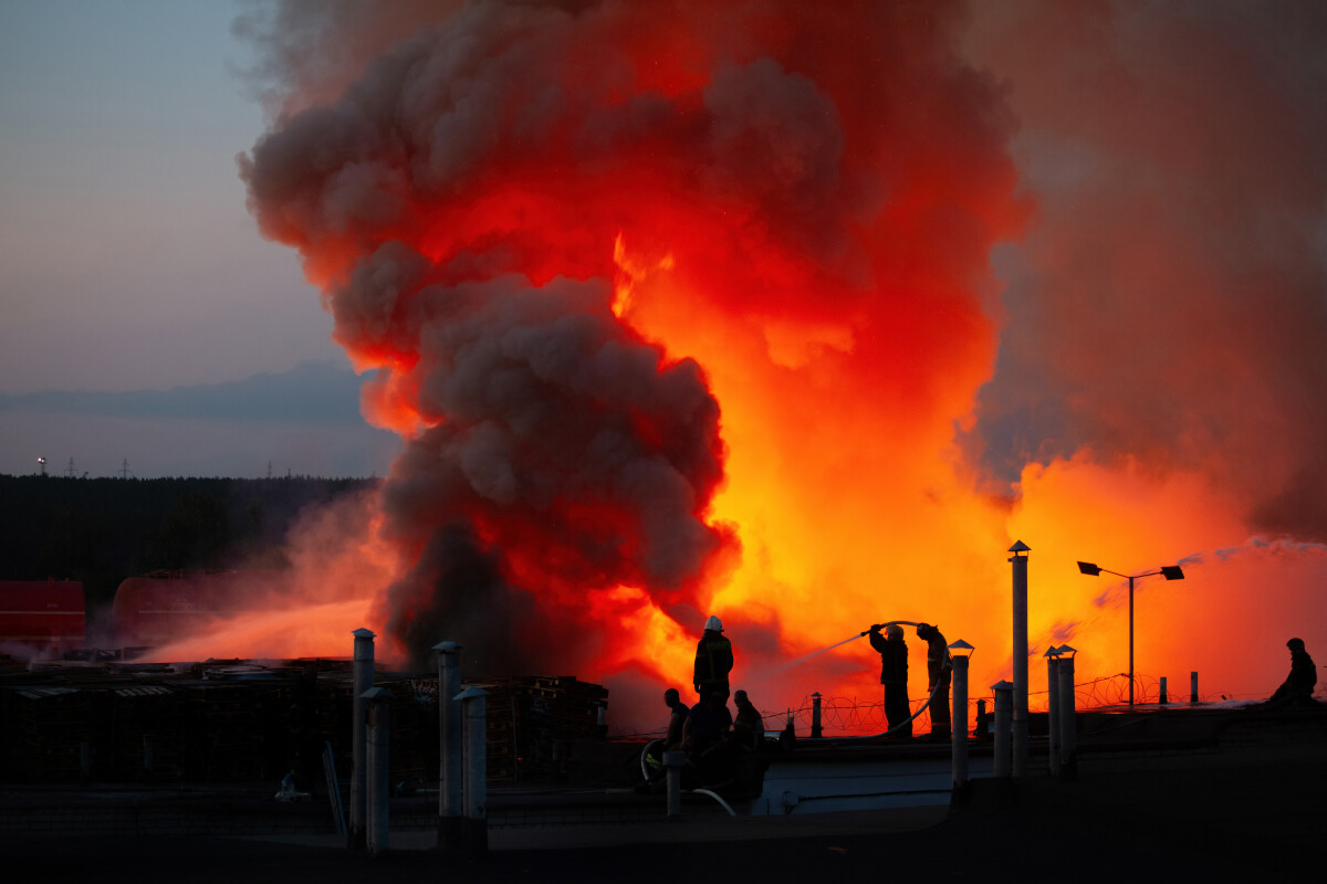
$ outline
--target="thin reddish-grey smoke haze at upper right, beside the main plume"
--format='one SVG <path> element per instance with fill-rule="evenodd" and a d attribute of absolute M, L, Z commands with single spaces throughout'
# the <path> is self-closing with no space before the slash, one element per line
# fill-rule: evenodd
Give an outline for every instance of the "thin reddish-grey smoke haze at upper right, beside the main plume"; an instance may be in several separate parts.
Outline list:
<path fill-rule="evenodd" d="M 978 4 L 1036 200 L 970 456 L 1197 469 L 1327 539 L 1327 9 Z"/>

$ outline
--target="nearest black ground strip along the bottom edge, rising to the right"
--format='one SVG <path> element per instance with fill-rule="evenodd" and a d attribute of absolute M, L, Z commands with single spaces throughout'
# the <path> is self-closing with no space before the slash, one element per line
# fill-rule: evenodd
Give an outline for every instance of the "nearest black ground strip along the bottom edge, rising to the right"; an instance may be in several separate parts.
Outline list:
<path fill-rule="evenodd" d="M 0 839 L 5 880 L 46 881 L 953 881 L 1312 880 L 1327 765 L 1097 767 L 1076 782 L 975 781 L 947 814 L 782 818 L 491 831 L 483 856 L 393 834 L 373 859 L 334 836 Z"/>

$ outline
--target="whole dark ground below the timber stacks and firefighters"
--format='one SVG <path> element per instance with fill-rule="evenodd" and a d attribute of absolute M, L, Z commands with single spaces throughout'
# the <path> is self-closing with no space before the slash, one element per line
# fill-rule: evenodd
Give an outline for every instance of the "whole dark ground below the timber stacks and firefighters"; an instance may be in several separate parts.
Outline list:
<path fill-rule="evenodd" d="M 414 807 L 413 831 L 394 803 L 393 822 L 402 831 L 391 832 L 386 855 L 370 857 L 346 850 L 342 836 L 271 834 L 317 832 L 317 826 L 295 824 L 321 808 L 275 804 L 269 797 L 259 802 L 248 790 L 7 789 L 0 790 L 0 880 L 1318 880 L 1327 840 L 1327 717 L 1320 710 L 1105 724 L 1108 738 L 1095 745 L 1091 734 L 1084 738 L 1091 751 L 1080 754 L 1076 777 L 1051 777 L 1040 767 L 1013 782 L 975 779 L 951 807 L 729 816 L 690 797 L 683 819 L 665 822 L 658 795 L 492 791 L 490 848 L 478 856 L 434 848 L 435 834 L 427 830 L 435 811 L 427 801 L 399 806 Z M 107 810 L 114 802 L 119 806 Z M 204 826 L 176 831 L 230 826 L 251 834 L 78 834 L 98 824 L 100 831 L 162 831 L 186 815 Z M 126 819 L 127 828 L 105 828 Z M 255 819 L 256 826 L 235 826 Z"/>

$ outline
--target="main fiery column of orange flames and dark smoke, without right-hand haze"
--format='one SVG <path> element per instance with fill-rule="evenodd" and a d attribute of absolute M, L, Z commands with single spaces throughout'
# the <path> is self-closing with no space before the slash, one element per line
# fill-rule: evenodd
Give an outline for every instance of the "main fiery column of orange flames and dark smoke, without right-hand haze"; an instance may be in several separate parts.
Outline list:
<path fill-rule="evenodd" d="M 955 433 L 995 362 L 991 249 L 1027 205 L 955 9 L 345 15 L 324 36 L 354 61 L 295 65 L 242 168 L 264 235 L 299 249 L 374 371 L 366 415 L 405 439 L 370 595 L 415 661 L 455 639 L 471 672 L 653 692 L 690 683 L 719 614 L 758 705 L 876 702 L 878 657 L 847 639 L 900 619 L 977 645 L 989 684 L 1009 671 L 1016 531 L 1032 644 L 1071 636 L 1093 645 L 1080 672 L 1109 671 L 1080 637 L 1116 628 L 1109 602 L 1052 569 L 1210 546 L 1131 547 L 1147 517 L 1047 542 L 1115 467 L 1031 474 L 1020 506 L 974 490 Z"/>

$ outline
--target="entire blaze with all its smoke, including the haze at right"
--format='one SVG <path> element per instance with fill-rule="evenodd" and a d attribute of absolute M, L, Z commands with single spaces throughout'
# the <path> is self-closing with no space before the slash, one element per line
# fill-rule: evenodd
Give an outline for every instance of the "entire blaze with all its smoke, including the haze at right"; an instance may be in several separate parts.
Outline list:
<path fill-rule="evenodd" d="M 406 439 L 320 652 L 453 639 L 653 724 L 709 614 L 770 710 L 878 700 L 865 641 L 784 665 L 928 620 L 981 694 L 1022 539 L 1034 656 L 1123 672 L 1127 592 L 1075 559 L 1180 562 L 1137 671 L 1270 693 L 1327 641 L 1324 23 L 1200 5 L 247 20 L 279 74 L 252 211 Z"/>

